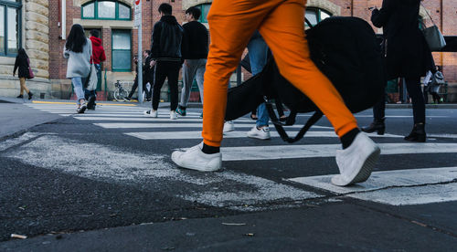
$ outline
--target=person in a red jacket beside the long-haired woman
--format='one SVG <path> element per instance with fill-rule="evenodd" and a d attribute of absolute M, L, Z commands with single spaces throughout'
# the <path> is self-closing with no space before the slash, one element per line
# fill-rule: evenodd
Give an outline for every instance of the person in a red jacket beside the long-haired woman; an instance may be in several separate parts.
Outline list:
<path fill-rule="evenodd" d="M 105 49 L 101 46 L 100 32 L 98 30 L 90 30 L 90 41 L 92 42 L 92 58 L 90 63 L 95 65 L 97 69 L 97 79 L 101 81 L 101 62 L 106 60 Z M 84 89 L 88 110 L 95 110 L 95 100 L 97 100 L 97 92 L 95 90 Z"/>

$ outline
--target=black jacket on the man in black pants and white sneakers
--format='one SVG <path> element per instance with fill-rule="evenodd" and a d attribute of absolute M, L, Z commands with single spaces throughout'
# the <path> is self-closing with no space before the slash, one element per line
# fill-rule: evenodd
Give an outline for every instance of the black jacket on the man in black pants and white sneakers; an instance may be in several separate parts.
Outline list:
<path fill-rule="evenodd" d="M 162 16 L 155 23 L 151 41 L 151 58 L 157 61 L 181 61 L 183 27 L 175 16 Z"/>

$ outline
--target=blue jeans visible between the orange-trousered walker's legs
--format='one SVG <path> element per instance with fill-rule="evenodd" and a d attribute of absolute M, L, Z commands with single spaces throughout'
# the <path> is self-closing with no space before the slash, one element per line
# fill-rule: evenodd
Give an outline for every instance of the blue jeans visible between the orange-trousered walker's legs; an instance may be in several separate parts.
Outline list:
<path fill-rule="evenodd" d="M 250 69 L 252 75 L 256 75 L 261 72 L 263 67 L 267 64 L 268 46 L 262 37 L 251 39 L 248 44 L 248 50 L 250 52 Z M 257 108 L 257 121 L 256 125 L 258 128 L 262 126 L 268 126 L 270 117 L 268 115 L 265 103 L 261 103 Z"/>

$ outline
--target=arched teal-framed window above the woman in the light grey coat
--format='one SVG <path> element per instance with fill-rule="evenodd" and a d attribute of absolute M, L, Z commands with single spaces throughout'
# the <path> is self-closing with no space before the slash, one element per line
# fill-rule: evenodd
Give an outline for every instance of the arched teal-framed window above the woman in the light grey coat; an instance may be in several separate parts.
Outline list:
<path fill-rule="evenodd" d="M 131 20 L 132 9 L 117 1 L 93 1 L 82 5 L 82 19 Z"/>

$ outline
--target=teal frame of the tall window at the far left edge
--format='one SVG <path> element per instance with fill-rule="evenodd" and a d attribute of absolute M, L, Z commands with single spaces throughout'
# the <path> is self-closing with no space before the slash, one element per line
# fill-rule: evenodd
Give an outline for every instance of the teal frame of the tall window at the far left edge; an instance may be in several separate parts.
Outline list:
<path fill-rule="evenodd" d="M 22 47 L 22 1 L 2 1 L 0 0 L 0 5 L 4 6 L 4 49 L 0 51 L 1 57 L 16 57 L 17 53 L 8 53 L 8 8 L 16 9 L 17 11 L 17 40 L 18 47 L 17 50 Z"/>

